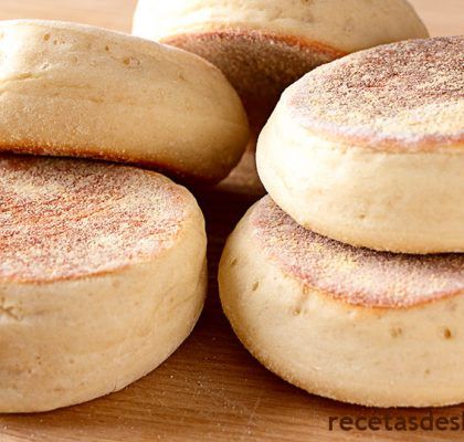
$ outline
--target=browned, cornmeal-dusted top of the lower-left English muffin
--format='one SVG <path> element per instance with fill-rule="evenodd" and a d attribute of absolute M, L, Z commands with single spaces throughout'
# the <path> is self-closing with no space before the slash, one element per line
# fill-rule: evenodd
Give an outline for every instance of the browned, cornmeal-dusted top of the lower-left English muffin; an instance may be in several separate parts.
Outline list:
<path fill-rule="evenodd" d="M 187 191 L 154 172 L 0 156 L 0 282 L 46 283 L 155 259 L 181 233 Z"/>

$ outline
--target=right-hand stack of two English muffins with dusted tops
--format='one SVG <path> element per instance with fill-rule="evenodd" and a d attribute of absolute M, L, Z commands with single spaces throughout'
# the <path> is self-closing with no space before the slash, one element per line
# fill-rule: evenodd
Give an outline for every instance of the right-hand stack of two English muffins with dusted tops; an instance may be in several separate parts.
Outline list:
<path fill-rule="evenodd" d="M 224 312 L 289 382 L 376 407 L 464 400 L 464 38 L 318 67 L 257 143 L 270 192 L 228 240 Z"/>

